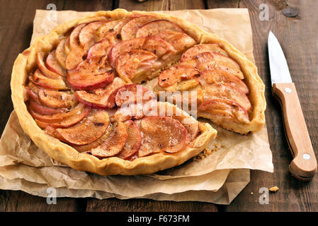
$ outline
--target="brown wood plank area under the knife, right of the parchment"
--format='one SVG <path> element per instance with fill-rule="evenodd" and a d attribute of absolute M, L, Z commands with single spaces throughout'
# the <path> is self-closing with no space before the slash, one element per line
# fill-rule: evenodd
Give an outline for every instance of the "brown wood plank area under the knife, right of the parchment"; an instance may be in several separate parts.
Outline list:
<path fill-rule="evenodd" d="M 208 1 L 209 3 L 212 1 Z M 288 165 L 292 160 L 285 141 L 281 109 L 271 95 L 270 71 L 268 67 L 267 37 L 272 30 L 280 40 L 297 92 L 300 95 L 302 110 L 307 121 L 307 128 L 312 139 L 314 150 L 318 148 L 317 128 L 317 1 L 288 1 L 290 6 L 300 9 L 300 16 L 287 18 L 280 9 L 284 8 L 278 1 L 265 1 L 269 6 L 269 20 L 259 20 L 259 6 L 264 1 L 239 1 L 241 8 L 249 8 L 254 40 L 254 57 L 259 74 L 266 84 L 266 124 L 268 138 L 273 151 L 273 174 L 251 171 L 251 182 L 229 206 L 222 206 L 227 211 L 317 211 L 318 178 L 311 182 L 299 182 L 290 176 Z M 222 7 L 222 5 L 218 5 Z M 316 112 L 316 114 L 314 113 Z M 278 186 L 276 193 L 269 194 L 269 204 L 259 203 L 259 189 Z"/>

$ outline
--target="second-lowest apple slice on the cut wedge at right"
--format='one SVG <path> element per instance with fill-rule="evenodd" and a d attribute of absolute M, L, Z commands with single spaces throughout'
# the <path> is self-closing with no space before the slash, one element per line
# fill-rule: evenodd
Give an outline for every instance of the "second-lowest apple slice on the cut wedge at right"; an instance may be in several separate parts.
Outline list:
<path fill-rule="evenodd" d="M 208 97 L 220 97 L 233 100 L 241 105 L 247 112 L 251 109 L 251 102 L 249 98 L 234 85 L 229 83 L 213 83 L 203 85 L 203 90 L 208 94 Z"/>

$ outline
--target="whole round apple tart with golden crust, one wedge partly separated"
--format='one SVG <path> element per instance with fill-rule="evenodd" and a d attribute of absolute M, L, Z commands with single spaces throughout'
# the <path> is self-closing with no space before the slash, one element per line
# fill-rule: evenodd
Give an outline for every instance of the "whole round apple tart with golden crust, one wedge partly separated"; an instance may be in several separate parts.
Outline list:
<path fill-rule="evenodd" d="M 160 13 L 100 11 L 57 26 L 18 55 L 11 90 L 35 145 L 102 175 L 181 165 L 215 138 L 210 124 L 158 101 L 161 91 L 195 92 L 199 117 L 237 133 L 265 122 L 256 66 L 216 35 Z"/>

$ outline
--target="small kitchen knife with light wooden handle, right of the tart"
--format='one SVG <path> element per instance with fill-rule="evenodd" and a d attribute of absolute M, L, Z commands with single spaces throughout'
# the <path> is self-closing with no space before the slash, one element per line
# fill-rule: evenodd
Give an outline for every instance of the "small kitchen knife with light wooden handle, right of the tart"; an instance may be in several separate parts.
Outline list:
<path fill-rule="evenodd" d="M 268 34 L 268 57 L 272 92 L 282 107 L 285 135 L 293 155 L 289 170 L 295 178 L 308 181 L 317 172 L 317 160 L 283 49 L 273 32 Z"/>

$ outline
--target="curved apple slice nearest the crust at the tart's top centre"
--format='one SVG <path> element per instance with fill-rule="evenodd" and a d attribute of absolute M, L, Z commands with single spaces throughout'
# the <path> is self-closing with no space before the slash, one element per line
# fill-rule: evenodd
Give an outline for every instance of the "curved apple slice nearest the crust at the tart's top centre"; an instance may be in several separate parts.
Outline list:
<path fill-rule="evenodd" d="M 141 28 L 143 25 L 158 20 L 155 16 L 139 16 L 136 18 L 132 18 L 129 20 L 123 28 L 120 30 L 120 36 L 122 40 L 131 40 L 136 37 L 137 30 Z"/>

